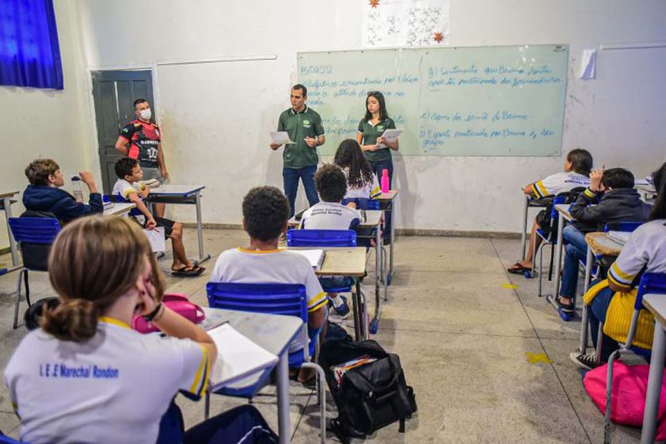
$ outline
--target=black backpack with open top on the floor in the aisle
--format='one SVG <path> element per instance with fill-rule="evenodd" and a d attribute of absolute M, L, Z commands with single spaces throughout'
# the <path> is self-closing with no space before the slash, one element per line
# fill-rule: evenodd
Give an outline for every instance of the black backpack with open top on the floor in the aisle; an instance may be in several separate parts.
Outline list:
<path fill-rule="evenodd" d="M 332 367 L 364 355 L 377 360 L 348 370 L 338 384 Z M 404 432 L 404 421 L 416 411 L 416 398 L 404 380 L 398 355 L 375 341 L 331 339 L 323 343 L 318 362 L 338 408 L 331 429 L 340 441 L 365 438 L 395 421 Z"/>

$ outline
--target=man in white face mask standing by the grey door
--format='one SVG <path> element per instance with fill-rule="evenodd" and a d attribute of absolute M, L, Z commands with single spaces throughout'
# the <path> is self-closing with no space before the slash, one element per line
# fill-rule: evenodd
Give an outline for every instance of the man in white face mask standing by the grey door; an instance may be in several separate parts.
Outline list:
<path fill-rule="evenodd" d="M 169 172 L 164 164 L 160 128 L 151 121 L 151 105 L 146 99 L 134 101 L 134 112 L 137 119 L 123 128 L 116 141 L 116 149 L 139 161 L 144 171 L 144 180 L 157 179 L 162 185 L 169 178 Z M 155 213 L 163 217 L 164 204 L 155 204 Z"/>

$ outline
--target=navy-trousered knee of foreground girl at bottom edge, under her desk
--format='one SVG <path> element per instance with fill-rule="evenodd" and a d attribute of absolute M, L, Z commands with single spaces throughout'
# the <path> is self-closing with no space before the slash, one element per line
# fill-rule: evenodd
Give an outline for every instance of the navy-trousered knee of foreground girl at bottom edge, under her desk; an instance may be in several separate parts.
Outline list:
<path fill-rule="evenodd" d="M 185 432 L 183 444 L 277 443 L 278 435 L 261 413 L 246 404 L 220 413 Z"/>

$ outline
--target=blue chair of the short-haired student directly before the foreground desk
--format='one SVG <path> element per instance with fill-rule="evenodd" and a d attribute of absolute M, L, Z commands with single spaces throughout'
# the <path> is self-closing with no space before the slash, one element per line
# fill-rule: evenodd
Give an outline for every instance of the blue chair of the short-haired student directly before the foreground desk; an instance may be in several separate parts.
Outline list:
<path fill-rule="evenodd" d="M 301 230 L 298 230 L 301 231 Z M 305 231 L 305 230 L 303 230 Z M 225 282 L 208 282 L 206 284 L 208 305 L 236 311 L 251 311 L 253 313 L 280 314 L 283 316 L 296 316 L 303 321 L 301 343 L 302 350 L 289 353 L 289 367 L 314 368 L 318 375 L 318 394 L 321 410 L 321 436 L 322 443 L 326 436 L 326 387 L 323 369 L 311 362 L 314 356 L 318 336 L 321 329 L 313 332 L 309 337 L 307 327 L 307 295 L 303 284 L 238 284 Z M 222 388 L 215 393 L 236 396 L 240 398 L 253 398 L 257 392 L 266 385 L 271 370 L 266 370 L 258 381 L 243 388 Z M 206 393 L 205 411 L 208 417 L 210 406 L 210 393 Z"/>

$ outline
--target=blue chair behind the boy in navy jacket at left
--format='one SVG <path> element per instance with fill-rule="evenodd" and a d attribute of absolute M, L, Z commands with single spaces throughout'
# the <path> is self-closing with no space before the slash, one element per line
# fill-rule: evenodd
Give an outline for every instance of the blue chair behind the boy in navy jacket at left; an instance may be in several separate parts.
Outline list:
<path fill-rule="evenodd" d="M 49 271 L 49 252 L 51 244 L 60 232 L 58 219 L 49 217 L 11 217 L 9 226 L 12 235 L 19 244 L 23 257 L 23 268 L 19 269 L 16 287 L 16 305 L 14 308 L 14 328 L 19 321 L 19 303 L 21 302 L 21 278 L 26 284 L 26 302 L 30 307 L 30 285 L 28 271 Z"/>

